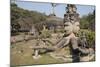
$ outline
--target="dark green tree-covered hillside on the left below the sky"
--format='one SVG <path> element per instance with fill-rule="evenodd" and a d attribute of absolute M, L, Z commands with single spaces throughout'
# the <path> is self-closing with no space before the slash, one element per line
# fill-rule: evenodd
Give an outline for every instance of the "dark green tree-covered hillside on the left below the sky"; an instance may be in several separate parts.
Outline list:
<path fill-rule="evenodd" d="M 29 23 L 25 24 L 25 21 L 28 20 Z M 11 3 L 11 31 L 19 31 L 21 23 L 24 25 L 41 23 L 41 21 L 46 20 L 46 15 L 44 13 L 39 13 L 37 11 L 29 11 L 22 9 L 17 6 L 17 4 Z M 29 26 L 30 27 L 30 26 Z"/>

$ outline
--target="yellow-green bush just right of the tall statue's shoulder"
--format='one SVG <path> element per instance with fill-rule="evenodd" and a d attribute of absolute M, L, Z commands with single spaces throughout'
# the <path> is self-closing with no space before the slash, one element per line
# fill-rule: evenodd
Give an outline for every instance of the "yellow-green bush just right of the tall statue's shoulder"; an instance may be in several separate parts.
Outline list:
<path fill-rule="evenodd" d="M 78 33 L 78 37 L 82 37 L 83 33 L 85 33 L 89 47 L 94 47 L 95 46 L 95 32 L 91 30 L 81 29 Z"/>

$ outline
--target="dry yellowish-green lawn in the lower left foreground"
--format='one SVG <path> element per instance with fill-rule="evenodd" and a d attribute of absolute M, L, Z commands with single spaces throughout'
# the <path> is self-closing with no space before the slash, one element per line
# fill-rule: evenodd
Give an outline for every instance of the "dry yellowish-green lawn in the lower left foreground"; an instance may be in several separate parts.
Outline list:
<path fill-rule="evenodd" d="M 33 59 L 33 50 L 29 48 L 29 45 L 31 44 L 33 44 L 31 41 L 27 43 L 20 42 L 17 44 L 12 44 L 13 48 L 11 47 L 11 65 L 56 64 L 64 62 L 61 59 L 55 59 L 51 57 L 49 54 L 42 54 L 38 60 Z M 23 52 L 18 53 L 20 50 L 23 50 Z"/>

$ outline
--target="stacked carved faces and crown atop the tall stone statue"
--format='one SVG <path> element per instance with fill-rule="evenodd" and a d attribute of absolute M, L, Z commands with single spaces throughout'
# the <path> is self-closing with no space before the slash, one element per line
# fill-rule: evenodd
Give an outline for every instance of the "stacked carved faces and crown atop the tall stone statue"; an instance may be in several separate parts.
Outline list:
<path fill-rule="evenodd" d="M 66 34 L 78 33 L 79 27 L 79 14 L 76 13 L 76 6 L 68 4 L 67 13 L 64 16 L 64 29 Z"/>

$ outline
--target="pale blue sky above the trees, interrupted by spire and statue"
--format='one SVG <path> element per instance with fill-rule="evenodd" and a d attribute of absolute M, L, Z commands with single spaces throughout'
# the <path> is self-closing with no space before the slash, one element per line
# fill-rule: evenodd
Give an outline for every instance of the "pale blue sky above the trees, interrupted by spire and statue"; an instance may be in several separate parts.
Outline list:
<path fill-rule="evenodd" d="M 50 3 L 36 3 L 36 2 L 21 1 L 21 2 L 16 2 L 16 4 L 23 9 L 34 10 L 41 13 L 45 13 L 47 15 L 52 13 L 52 6 Z M 95 6 L 90 6 L 90 5 L 76 5 L 76 6 L 77 6 L 77 12 L 80 14 L 80 17 L 93 12 L 93 10 L 95 9 Z M 56 16 L 63 18 L 65 14 L 65 7 L 66 4 L 58 4 L 55 7 Z"/>

